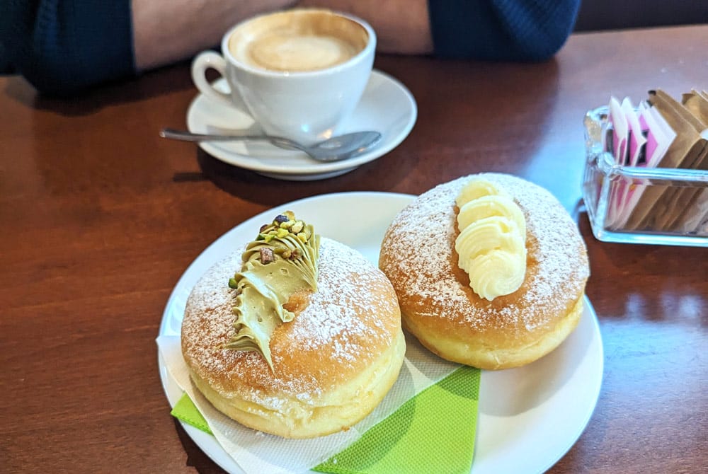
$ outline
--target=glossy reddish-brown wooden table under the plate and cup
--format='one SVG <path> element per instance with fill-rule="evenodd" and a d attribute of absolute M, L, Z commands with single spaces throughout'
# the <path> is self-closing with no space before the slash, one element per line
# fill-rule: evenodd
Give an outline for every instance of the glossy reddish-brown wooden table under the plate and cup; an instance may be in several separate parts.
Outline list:
<path fill-rule="evenodd" d="M 699 26 L 575 35 L 543 64 L 378 57 L 416 97 L 416 126 L 379 160 L 307 183 L 158 138 L 185 126 L 188 64 L 72 100 L 0 79 L 0 471 L 219 472 L 169 415 L 154 342 L 201 250 L 301 197 L 418 194 L 486 170 L 573 209 L 586 109 L 708 88 L 707 43 Z M 600 243 L 584 212 L 578 223 L 605 376 L 586 431 L 550 472 L 705 472 L 708 248 Z"/>

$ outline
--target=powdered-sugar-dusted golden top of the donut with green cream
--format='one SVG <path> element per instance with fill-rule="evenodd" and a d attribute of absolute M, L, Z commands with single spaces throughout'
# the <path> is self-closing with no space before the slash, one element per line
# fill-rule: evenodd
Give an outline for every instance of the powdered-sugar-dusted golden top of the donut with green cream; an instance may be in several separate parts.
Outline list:
<path fill-rule="evenodd" d="M 261 354 L 221 348 L 234 322 L 227 282 L 240 267 L 237 251 L 205 273 L 190 294 L 182 326 L 185 360 L 220 392 L 238 392 L 272 410 L 282 403 L 273 395 L 307 403 L 378 357 L 400 328 L 384 274 L 357 251 L 322 238 L 318 291 L 292 322 L 275 330 L 272 373 Z"/>

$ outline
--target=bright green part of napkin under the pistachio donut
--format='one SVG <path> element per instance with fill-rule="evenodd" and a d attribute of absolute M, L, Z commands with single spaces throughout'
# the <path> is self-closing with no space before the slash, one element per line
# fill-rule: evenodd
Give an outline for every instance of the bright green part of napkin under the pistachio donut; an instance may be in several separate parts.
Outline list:
<path fill-rule="evenodd" d="M 461 366 L 401 405 L 347 449 L 312 470 L 332 474 L 469 473 L 479 401 L 479 369 Z M 188 395 L 171 414 L 211 433 Z"/>

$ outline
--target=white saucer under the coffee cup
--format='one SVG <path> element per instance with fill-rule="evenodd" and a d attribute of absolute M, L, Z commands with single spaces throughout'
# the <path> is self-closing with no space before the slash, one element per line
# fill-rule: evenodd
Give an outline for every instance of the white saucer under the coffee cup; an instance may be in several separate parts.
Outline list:
<path fill-rule="evenodd" d="M 227 91 L 221 78 L 215 87 Z M 318 163 L 301 151 L 283 150 L 267 143 L 224 143 L 203 141 L 200 146 L 211 156 L 240 168 L 281 180 L 321 180 L 348 173 L 364 163 L 387 154 L 403 141 L 416 123 L 418 108 L 411 92 L 399 81 L 381 71 L 372 71 L 362 99 L 342 133 L 377 130 L 383 135 L 377 146 L 355 158 L 336 163 Z M 199 94 L 187 111 L 190 132 L 208 133 L 224 129 L 253 128 L 253 119 L 236 108 Z M 257 125 L 256 125 L 257 127 Z"/>

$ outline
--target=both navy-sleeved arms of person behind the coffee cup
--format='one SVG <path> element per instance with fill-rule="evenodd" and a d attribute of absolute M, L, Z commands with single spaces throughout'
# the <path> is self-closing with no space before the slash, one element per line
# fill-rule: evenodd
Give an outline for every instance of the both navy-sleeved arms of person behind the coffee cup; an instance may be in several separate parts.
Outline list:
<path fill-rule="evenodd" d="M 69 95 L 193 56 L 231 25 L 289 6 L 349 11 L 382 52 L 496 60 L 552 56 L 580 0 L 4 0 L 0 65 Z"/>

